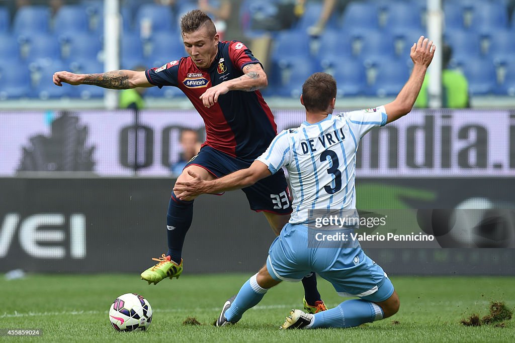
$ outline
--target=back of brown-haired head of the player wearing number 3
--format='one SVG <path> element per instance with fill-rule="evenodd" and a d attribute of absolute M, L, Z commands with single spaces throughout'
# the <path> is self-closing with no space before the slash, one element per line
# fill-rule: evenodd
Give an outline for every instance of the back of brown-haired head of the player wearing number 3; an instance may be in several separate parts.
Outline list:
<path fill-rule="evenodd" d="M 327 73 L 315 73 L 302 85 L 304 107 L 309 112 L 326 111 L 336 98 L 336 80 Z"/>

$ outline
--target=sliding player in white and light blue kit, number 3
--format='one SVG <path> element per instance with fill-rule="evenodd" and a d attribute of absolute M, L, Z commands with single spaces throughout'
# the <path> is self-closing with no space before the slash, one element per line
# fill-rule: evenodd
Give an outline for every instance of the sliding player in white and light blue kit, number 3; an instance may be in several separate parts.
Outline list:
<path fill-rule="evenodd" d="M 281 328 L 347 328 L 387 318 L 399 310 L 399 296 L 383 269 L 354 242 L 347 247 L 308 244 L 307 223 L 312 210 L 355 210 L 355 158 L 361 138 L 409 113 L 434 56 L 432 41 L 420 37 L 411 47 L 414 68 L 397 98 L 375 109 L 333 115 L 336 82 L 315 73 L 302 86 L 306 121 L 298 129 L 281 132 L 263 155 L 248 168 L 212 181 L 195 173 L 193 180 L 177 183 L 178 196 L 244 188 L 286 167 L 294 196 L 291 219 L 270 246 L 266 265 L 252 276 L 236 297 L 226 301 L 216 326 L 235 323 L 282 280 L 300 281 L 314 272 L 331 282 L 342 296 L 357 296 L 334 309 L 315 314 L 292 310 Z M 273 195 L 271 195 L 273 196 Z M 281 206 L 278 199 L 278 206 Z"/>

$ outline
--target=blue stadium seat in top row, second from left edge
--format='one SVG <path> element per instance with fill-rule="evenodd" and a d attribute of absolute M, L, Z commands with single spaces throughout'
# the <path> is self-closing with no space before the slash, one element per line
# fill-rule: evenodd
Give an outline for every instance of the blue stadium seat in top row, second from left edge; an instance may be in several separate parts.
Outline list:
<path fill-rule="evenodd" d="M 49 31 L 50 9 L 46 6 L 24 6 L 14 15 L 16 34 L 45 33 Z"/>

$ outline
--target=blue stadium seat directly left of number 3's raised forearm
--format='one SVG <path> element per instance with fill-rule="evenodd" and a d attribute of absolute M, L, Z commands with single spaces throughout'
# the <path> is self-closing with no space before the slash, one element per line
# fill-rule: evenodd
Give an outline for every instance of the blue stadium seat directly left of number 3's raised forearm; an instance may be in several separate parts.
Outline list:
<path fill-rule="evenodd" d="M 374 68 L 375 77 L 366 88 L 366 95 L 396 96 L 409 78 L 409 68 L 404 61 L 383 59 Z"/>

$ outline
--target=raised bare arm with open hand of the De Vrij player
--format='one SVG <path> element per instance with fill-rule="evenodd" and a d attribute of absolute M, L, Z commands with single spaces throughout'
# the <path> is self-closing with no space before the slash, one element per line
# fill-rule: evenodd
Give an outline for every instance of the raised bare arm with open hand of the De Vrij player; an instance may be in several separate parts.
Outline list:
<path fill-rule="evenodd" d="M 402 87 L 397 98 L 385 105 L 386 114 L 388 115 L 387 123 L 391 123 L 408 114 L 413 108 L 424 82 L 427 67 L 431 64 L 435 55 L 435 50 L 436 46 L 433 45 L 433 41 L 427 38 L 424 39 L 424 36 L 420 36 L 418 42 L 414 43 L 411 47 L 409 56 L 414 63 L 413 71 L 411 71 L 411 76 L 404 87 Z"/>

